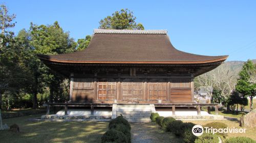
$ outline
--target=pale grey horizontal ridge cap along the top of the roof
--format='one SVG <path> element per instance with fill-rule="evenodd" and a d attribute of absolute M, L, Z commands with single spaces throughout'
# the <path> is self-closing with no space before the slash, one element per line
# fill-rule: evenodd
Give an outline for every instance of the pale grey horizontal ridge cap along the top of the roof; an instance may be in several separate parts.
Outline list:
<path fill-rule="evenodd" d="M 94 34 L 167 34 L 167 30 L 114 30 L 114 29 L 94 29 Z"/>

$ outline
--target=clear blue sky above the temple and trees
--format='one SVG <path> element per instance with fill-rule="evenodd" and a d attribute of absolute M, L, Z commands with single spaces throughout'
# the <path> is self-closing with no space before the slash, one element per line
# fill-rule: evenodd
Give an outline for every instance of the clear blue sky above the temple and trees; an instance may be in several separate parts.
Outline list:
<path fill-rule="evenodd" d="M 256 1 L 0 1 L 16 14 L 15 33 L 30 22 L 58 21 L 76 40 L 99 20 L 128 8 L 146 30 L 165 29 L 176 49 L 200 55 L 256 59 Z"/>

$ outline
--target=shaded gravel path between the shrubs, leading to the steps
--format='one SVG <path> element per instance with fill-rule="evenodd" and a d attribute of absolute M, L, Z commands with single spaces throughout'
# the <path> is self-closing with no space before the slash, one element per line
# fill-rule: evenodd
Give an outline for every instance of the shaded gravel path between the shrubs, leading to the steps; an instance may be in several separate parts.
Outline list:
<path fill-rule="evenodd" d="M 133 143 L 182 142 L 181 138 L 165 132 L 156 123 L 131 123 Z"/>

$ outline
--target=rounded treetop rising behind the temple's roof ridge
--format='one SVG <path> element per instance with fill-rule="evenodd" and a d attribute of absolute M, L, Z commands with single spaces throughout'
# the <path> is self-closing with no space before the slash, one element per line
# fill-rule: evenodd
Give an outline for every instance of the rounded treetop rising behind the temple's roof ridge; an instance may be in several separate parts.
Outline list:
<path fill-rule="evenodd" d="M 144 30 L 141 23 L 135 22 L 136 17 L 128 9 L 121 9 L 112 14 L 112 16 L 106 16 L 99 21 L 99 29 L 129 29 L 129 30 Z"/>

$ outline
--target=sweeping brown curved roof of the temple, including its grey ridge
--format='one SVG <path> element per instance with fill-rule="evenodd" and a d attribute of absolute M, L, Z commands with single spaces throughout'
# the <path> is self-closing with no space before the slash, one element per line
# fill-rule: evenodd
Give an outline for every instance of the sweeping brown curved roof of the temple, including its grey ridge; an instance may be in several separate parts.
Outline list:
<path fill-rule="evenodd" d="M 228 56 L 203 56 L 179 51 L 167 31 L 94 30 L 87 49 L 59 55 L 38 55 L 42 60 L 65 63 L 208 63 Z"/>

